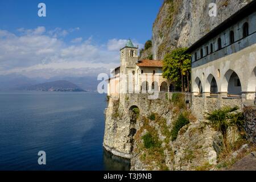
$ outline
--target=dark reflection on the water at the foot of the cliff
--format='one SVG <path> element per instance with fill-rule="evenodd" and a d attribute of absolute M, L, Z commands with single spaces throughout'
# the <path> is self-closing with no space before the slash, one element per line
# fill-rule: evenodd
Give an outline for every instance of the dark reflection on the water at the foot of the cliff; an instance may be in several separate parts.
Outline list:
<path fill-rule="evenodd" d="M 130 171 L 130 160 L 120 158 L 104 149 L 103 163 L 105 171 Z"/>

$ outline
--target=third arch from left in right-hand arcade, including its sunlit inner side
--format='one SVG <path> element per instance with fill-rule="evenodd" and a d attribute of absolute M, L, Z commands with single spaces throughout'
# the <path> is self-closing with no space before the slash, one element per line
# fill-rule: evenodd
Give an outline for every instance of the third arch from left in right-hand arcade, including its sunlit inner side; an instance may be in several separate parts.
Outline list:
<path fill-rule="evenodd" d="M 225 73 L 224 79 L 221 85 L 221 91 L 228 92 L 228 94 L 231 94 L 231 95 L 241 94 L 242 85 L 241 85 L 240 78 L 238 77 L 237 73 L 234 72 L 232 69 L 229 69 Z"/>

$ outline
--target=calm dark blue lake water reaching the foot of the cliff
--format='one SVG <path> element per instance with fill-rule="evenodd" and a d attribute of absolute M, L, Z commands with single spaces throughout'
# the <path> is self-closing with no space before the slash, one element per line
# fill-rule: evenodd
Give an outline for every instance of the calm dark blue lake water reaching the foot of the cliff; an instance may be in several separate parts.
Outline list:
<path fill-rule="evenodd" d="M 0 170 L 129 170 L 102 148 L 104 94 L 0 92 Z M 46 165 L 38 152 L 46 152 Z"/>

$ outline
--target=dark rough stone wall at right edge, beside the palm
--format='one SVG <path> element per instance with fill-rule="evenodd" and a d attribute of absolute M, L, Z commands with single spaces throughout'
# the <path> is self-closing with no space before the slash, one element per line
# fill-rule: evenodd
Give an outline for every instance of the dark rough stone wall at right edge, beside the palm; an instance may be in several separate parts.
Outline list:
<path fill-rule="evenodd" d="M 256 143 L 256 107 L 246 106 L 243 108 L 245 113 L 245 130 L 247 139 Z"/>

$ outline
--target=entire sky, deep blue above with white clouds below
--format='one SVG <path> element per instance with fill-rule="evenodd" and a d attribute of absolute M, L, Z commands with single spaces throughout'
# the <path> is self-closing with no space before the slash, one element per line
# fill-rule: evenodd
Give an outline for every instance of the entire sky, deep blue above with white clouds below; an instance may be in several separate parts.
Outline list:
<path fill-rule="evenodd" d="M 38 4 L 46 4 L 46 17 Z M 86 76 L 119 65 L 127 39 L 151 39 L 161 0 L 0 1 L 0 75 Z"/>

